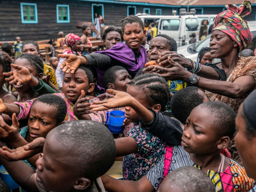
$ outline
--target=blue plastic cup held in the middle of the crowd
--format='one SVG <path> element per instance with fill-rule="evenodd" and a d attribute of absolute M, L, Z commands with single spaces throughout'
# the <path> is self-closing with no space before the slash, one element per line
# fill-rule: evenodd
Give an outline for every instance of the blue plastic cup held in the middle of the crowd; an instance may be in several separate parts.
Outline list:
<path fill-rule="evenodd" d="M 124 119 L 125 116 L 123 111 L 115 110 L 107 112 L 106 124 L 108 125 L 110 132 L 115 134 L 124 132 Z"/>

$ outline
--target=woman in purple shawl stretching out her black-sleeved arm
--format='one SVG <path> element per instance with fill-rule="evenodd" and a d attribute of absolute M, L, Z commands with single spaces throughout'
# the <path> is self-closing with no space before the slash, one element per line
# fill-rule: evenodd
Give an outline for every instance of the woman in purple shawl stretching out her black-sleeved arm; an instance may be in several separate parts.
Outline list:
<path fill-rule="evenodd" d="M 74 70 L 82 64 L 92 66 L 98 72 L 98 84 L 103 87 L 104 72 L 115 65 L 126 68 L 129 74 L 134 78 L 136 73 L 144 67 L 147 62 L 146 49 L 141 46 L 146 34 L 144 24 L 140 18 L 130 15 L 121 22 L 124 43 L 117 43 L 110 50 L 95 52 L 85 56 L 76 56 L 71 54 L 60 54 L 61 58 L 67 58 L 61 65 L 63 72 L 74 73 Z"/>

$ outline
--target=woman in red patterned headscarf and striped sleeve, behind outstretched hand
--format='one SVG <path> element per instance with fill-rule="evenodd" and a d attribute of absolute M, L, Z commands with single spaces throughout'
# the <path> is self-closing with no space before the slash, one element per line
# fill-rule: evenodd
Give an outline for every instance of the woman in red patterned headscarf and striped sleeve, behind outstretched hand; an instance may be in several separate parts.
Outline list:
<path fill-rule="evenodd" d="M 76 54 L 77 56 L 81 55 L 81 51 L 83 51 L 83 43 L 82 43 L 82 39 L 79 36 L 73 33 L 67 34 L 65 36 L 64 42 L 66 43 L 68 48 L 64 50 L 62 54 Z M 65 58 L 60 58 L 59 64 L 55 72 L 57 83 L 60 88 L 62 88 L 62 81 L 64 77 L 64 72 L 62 72 L 62 70 L 60 69 L 60 65 L 64 60 Z"/>

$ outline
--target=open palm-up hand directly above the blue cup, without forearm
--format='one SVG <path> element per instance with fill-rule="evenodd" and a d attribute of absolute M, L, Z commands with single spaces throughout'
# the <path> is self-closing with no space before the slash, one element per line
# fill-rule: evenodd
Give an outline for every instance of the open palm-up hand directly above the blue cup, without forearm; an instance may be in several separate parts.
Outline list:
<path fill-rule="evenodd" d="M 103 101 L 94 101 L 94 105 L 90 106 L 90 108 L 92 108 L 92 111 L 102 111 L 112 108 L 132 106 L 134 102 L 134 98 L 126 92 L 116 91 L 112 89 L 107 89 L 107 92 L 114 95 L 114 97 Z"/>

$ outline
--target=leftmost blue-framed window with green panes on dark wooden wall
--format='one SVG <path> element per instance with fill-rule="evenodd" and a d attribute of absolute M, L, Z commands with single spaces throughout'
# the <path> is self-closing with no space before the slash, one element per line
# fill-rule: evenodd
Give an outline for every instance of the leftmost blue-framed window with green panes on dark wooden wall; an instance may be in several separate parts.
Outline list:
<path fill-rule="evenodd" d="M 20 12 L 22 23 L 38 23 L 35 3 L 20 3 Z"/>

